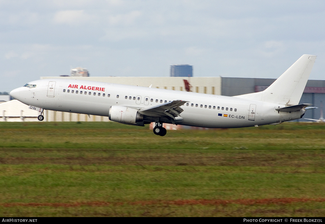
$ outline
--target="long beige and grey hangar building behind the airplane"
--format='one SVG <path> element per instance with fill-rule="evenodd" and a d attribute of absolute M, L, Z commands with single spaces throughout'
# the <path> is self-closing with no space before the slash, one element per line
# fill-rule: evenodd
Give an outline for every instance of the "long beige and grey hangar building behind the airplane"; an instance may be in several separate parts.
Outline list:
<path fill-rule="evenodd" d="M 276 79 L 266 78 L 230 78 L 230 77 L 41 77 L 41 79 L 81 79 L 98 82 L 108 82 L 116 84 L 134 85 L 134 86 L 147 86 L 152 85 L 152 88 L 186 91 L 184 79 L 189 83 L 189 89 L 192 92 L 208 93 L 214 95 L 235 96 L 252 92 L 259 92 L 265 90 Z M 325 102 L 325 80 L 308 80 L 305 87 L 305 91 L 301 97 L 300 103 L 309 103 L 313 106 L 319 107 L 318 109 L 307 110 L 304 118 L 319 119 L 320 111 L 324 108 L 320 108 L 323 105 L 321 102 Z M 8 102 L 9 103 L 9 102 Z M 0 111 L 7 111 L 7 118 L 0 119 L 1 121 L 14 121 L 10 119 L 8 109 L 6 107 L 10 104 L 0 104 Z M 19 107 L 15 105 L 15 107 Z M 22 104 L 19 114 L 24 121 L 23 112 L 29 110 L 26 105 Z M 32 111 L 32 110 L 31 110 Z M 35 111 L 33 111 L 35 112 Z M 35 118 L 29 114 L 31 121 L 38 121 L 36 112 Z M 44 121 L 109 121 L 108 117 L 91 116 L 90 118 L 84 114 L 73 114 L 67 112 L 58 111 L 45 111 Z M 19 115 L 15 115 L 17 117 Z M 26 121 L 27 119 L 25 119 Z M 307 121 L 306 119 L 298 119 L 294 121 Z"/>

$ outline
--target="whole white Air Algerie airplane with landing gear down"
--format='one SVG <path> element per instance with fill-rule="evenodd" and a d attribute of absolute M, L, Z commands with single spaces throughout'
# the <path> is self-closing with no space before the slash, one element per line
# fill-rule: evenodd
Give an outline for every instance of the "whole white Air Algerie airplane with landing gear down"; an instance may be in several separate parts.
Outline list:
<path fill-rule="evenodd" d="M 302 118 L 311 104 L 299 104 L 316 56 L 301 56 L 265 91 L 220 96 L 71 79 L 43 79 L 10 92 L 38 110 L 98 116 L 123 124 L 144 126 L 164 136 L 162 123 L 205 128 L 240 128 Z"/>

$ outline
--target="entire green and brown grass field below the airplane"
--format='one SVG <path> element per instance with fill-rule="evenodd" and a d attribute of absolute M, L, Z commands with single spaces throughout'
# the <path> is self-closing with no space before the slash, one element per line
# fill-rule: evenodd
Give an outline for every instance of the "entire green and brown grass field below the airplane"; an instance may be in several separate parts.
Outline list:
<path fill-rule="evenodd" d="M 0 122 L 0 216 L 325 216 L 325 125 Z"/>

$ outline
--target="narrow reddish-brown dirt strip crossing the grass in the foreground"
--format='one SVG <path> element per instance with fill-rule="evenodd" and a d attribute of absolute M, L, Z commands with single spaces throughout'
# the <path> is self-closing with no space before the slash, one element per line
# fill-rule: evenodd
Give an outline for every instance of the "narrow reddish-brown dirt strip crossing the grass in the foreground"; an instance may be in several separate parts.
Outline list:
<path fill-rule="evenodd" d="M 297 202 L 325 202 L 325 198 L 265 198 L 265 199 L 236 199 L 236 200 L 219 200 L 219 199 L 188 199 L 188 200 L 175 200 L 175 201 L 135 201 L 135 202 L 75 202 L 75 203 L 0 203 L 0 206 L 13 207 L 13 206 L 49 206 L 49 207 L 79 207 L 79 206 L 109 206 L 109 205 L 152 205 L 152 204 L 169 204 L 169 205 L 218 205 L 218 204 L 286 204 Z"/>

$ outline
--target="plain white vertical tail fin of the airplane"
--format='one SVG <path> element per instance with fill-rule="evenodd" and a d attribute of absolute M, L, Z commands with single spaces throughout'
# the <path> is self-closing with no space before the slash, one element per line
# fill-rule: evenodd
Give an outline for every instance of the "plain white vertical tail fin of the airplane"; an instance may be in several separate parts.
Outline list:
<path fill-rule="evenodd" d="M 316 56 L 304 54 L 266 90 L 235 97 L 287 106 L 299 104 Z"/>

